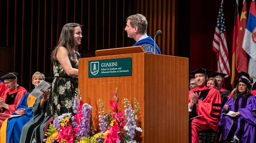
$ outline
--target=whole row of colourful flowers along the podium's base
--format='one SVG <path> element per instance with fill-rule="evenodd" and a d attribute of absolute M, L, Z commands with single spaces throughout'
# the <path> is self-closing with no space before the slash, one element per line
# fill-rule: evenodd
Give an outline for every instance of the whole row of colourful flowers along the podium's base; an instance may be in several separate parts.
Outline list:
<path fill-rule="evenodd" d="M 85 103 L 77 94 L 74 100 L 73 110 L 75 115 L 71 113 L 63 114 L 55 117 L 53 124 L 50 124 L 46 143 L 137 143 L 134 140 L 136 132 L 142 132 L 140 127 L 137 127 L 136 120 L 139 103 L 134 98 L 135 110 L 132 110 L 128 99 L 124 99 L 125 110 L 124 114 L 118 110 L 117 87 L 115 94 L 112 94 L 114 100 L 110 100 L 109 104 L 113 107 L 113 113 L 106 113 L 101 99 L 99 126 L 100 132 L 94 135 L 92 131 L 91 111 L 92 106 Z M 70 120 L 71 118 L 71 120 Z M 72 122 L 72 123 L 70 123 Z"/>

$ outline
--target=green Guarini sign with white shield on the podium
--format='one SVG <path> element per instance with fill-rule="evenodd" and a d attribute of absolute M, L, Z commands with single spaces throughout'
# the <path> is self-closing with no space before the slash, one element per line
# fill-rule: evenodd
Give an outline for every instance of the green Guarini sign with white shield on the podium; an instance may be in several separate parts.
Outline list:
<path fill-rule="evenodd" d="M 131 57 L 88 61 L 88 77 L 131 75 Z"/>

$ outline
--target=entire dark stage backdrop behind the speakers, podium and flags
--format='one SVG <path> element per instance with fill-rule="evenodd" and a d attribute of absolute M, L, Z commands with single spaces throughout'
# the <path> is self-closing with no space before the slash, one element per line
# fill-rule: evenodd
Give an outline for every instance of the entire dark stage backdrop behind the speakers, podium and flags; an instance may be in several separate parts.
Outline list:
<path fill-rule="evenodd" d="M 189 71 L 199 67 L 216 70 L 216 53 L 211 44 L 220 3 L 221 0 L 0 0 L 0 69 L 4 70 L 0 76 L 19 72 L 18 83 L 27 90 L 33 88 L 31 76 L 35 71 L 53 76 L 50 54 L 65 23 L 84 25 L 79 46 L 82 58 L 94 57 L 95 50 L 129 47 L 135 41 L 127 38 L 126 18 L 136 13 L 146 16 L 149 36 L 163 31 L 156 43 L 164 55 L 189 58 Z M 234 14 L 235 0 L 224 1 L 230 64 Z M 231 90 L 230 77 L 225 82 Z"/>

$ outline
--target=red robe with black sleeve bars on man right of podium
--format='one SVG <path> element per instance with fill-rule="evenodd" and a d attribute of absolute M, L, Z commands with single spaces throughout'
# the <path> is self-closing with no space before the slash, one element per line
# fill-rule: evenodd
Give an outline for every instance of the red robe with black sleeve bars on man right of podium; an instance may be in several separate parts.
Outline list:
<path fill-rule="evenodd" d="M 218 90 L 211 86 L 196 87 L 188 92 L 188 103 L 190 103 L 189 95 L 198 93 L 198 105 L 194 104 L 192 111 L 189 113 L 189 136 L 192 143 L 198 143 L 198 132 L 206 129 L 217 130 L 218 122 L 221 115 L 221 95 Z M 190 140 L 189 139 L 189 140 Z"/>

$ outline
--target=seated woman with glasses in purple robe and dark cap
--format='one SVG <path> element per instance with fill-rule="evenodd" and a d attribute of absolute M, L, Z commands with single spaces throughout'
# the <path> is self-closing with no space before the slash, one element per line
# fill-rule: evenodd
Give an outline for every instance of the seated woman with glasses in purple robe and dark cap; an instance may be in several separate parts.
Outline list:
<path fill-rule="evenodd" d="M 222 107 L 219 125 L 222 125 L 223 140 L 234 143 L 254 142 L 256 97 L 250 94 L 251 90 L 251 83 L 241 77 L 232 98 Z"/>

